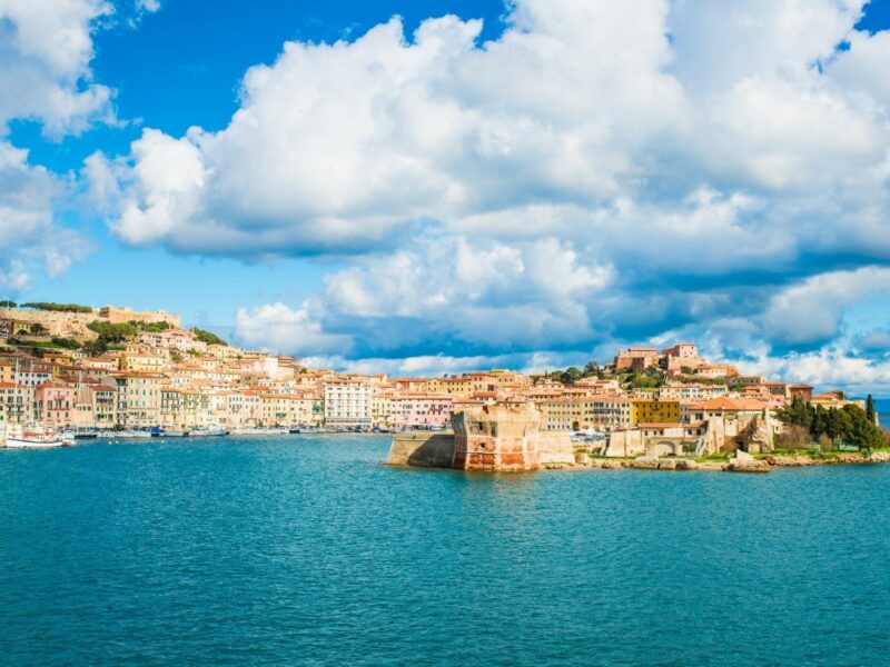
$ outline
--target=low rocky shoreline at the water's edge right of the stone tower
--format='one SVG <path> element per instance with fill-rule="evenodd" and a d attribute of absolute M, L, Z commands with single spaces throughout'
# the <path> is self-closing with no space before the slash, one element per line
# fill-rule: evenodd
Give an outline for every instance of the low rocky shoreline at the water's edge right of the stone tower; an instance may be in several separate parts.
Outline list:
<path fill-rule="evenodd" d="M 872 464 L 890 464 L 890 451 L 877 451 L 871 455 L 839 452 L 824 458 L 810 455 L 767 455 L 762 458 L 743 451 L 728 460 L 705 460 L 680 458 L 656 458 L 640 456 L 626 458 L 594 458 L 587 454 L 577 454 L 572 464 L 544 464 L 544 470 L 704 470 L 712 472 L 769 472 L 773 468 L 807 468 L 813 466 L 862 466 Z"/>

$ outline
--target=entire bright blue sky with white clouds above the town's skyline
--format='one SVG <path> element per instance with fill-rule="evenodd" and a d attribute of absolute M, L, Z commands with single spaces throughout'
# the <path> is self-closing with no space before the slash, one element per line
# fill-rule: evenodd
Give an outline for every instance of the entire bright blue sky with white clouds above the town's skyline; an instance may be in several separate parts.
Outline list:
<path fill-rule="evenodd" d="M 0 298 L 890 396 L 890 0 L 0 0 Z"/>

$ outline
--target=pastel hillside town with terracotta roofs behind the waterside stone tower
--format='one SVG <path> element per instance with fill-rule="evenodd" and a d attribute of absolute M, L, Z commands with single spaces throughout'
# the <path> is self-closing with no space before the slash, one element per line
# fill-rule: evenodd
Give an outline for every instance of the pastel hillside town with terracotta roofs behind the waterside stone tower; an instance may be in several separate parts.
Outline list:
<path fill-rule="evenodd" d="M 696 345 L 630 347 L 607 364 L 388 377 L 308 368 L 241 349 L 166 311 L 2 303 L 0 428 L 119 435 L 329 429 L 443 430 L 479 406 L 533 407 L 604 456 L 769 451 L 792 405 L 868 410 L 842 391 L 740 375 Z"/>

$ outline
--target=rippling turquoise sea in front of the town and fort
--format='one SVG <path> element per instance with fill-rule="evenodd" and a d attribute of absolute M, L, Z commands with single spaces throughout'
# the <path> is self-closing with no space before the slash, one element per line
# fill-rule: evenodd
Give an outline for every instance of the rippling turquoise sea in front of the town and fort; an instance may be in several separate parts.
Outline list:
<path fill-rule="evenodd" d="M 387 447 L 0 451 L 0 663 L 888 663 L 890 466 L 484 476 Z"/>

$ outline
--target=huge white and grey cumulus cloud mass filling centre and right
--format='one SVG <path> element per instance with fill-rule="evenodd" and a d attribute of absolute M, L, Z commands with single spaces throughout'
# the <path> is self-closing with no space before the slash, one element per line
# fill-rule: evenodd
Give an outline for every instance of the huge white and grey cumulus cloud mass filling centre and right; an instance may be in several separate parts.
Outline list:
<path fill-rule="evenodd" d="M 287 42 L 222 130 L 147 129 L 86 172 L 127 243 L 338 256 L 306 303 L 263 307 L 285 326 L 239 312 L 245 340 L 810 350 L 890 260 L 890 53 L 856 30 L 863 4 L 515 0 L 486 42 L 475 20 L 394 18 Z"/>

